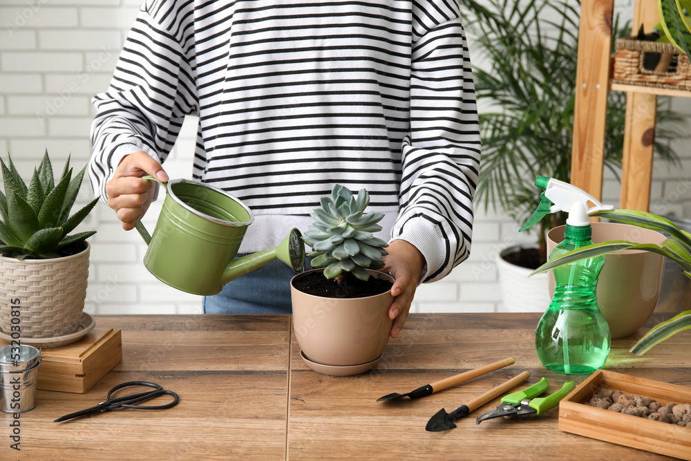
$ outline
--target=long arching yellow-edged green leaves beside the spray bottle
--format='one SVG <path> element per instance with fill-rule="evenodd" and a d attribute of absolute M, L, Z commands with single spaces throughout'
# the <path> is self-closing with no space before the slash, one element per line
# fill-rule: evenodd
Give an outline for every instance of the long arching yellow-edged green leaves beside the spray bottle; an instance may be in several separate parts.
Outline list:
<path fill-rule="evenodd" d="M 593 258 L 594 256 L 600 256 L 602 254 L 614 253 L 621 250 L 644 250 L 662 254 L 672 259 L 672 261 L 681 266 L 683 273 L 691 278 L 691 234 L 676 227 L 672 221 L 657 216 L 656 214 L 647 213 L 646 211 L 634 211 L 630 209 L 597 211 L 591 214 L 591 216 L 606 218 L 623 224 L 635 225 L 643 227 L 644 229 L 665 232 L 670 235 L 670 238 L 667 238 L 660 245 L 656 243 L 632 243 L 628 241 L 609 241 L 587 245 L 572 252 L 562 254 L 562 256 L 558 258 L 554 258 L 538 267 L 531 275 L 547 272 L 556 267 L 573 263 L 574 261 Z M 681 314 L 673 319 L 659 323 L 659 325 L 652 328 L 652 330 L 639 339 L 630 349 L 630 352 L 636 355 L 643 355 L 661 341 L 664 341 L 680 331 L 688 329 L 691 329 L 691 310 L 681 312 Z"/>

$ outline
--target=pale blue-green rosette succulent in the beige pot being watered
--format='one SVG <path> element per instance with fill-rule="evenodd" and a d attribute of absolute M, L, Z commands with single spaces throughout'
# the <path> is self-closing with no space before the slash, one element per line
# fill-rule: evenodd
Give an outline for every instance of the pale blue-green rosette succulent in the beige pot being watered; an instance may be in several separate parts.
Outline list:
<path fill-rule="evenodd" d="M 303 241 L 312 247 L 315 256 L 312 267 L 325 267 L 327 279 L 342 282 L 344 272 L 351 272 L 366 281 L 370 274 L 366 268 L 381 269 L 381 256 L 388 254 L 387 243 L 374 236 L 381 230 L 381 213 L 365 213 L 370 194 L 360 189 L 357 197 L 341 185 L 334 185 L 331 198 L 321 198 L 321 207 L 312 213 L 314 223 L 305 232 Z"/>

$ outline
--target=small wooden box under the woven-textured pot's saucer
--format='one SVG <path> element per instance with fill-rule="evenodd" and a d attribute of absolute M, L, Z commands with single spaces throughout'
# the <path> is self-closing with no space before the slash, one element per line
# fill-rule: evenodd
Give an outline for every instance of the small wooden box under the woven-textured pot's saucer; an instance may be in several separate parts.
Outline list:
<path fill-rule="evenodd" d="M 122 335 L 117 328 L 96 327 L 73 344 L 41 352 L 37 388 L 83 394 L 122 361 Z"/>

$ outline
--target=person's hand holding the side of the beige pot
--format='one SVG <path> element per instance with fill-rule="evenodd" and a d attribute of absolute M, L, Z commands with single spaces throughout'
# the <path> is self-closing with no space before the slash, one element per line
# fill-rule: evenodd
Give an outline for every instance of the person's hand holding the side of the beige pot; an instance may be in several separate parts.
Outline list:
<path fill-rule="evenodd" d="M 385 264 L 382 270 L 390 272 L 395 280 L 391 287 L 395 299 L 388 312 L 389 318 L 393 319 L 390 334 L 395 338 L 408 317 L 425 258 L 415 245 L 404 240 L 392 241 L 386 250 L 389 254 L 382 258 Z"/>

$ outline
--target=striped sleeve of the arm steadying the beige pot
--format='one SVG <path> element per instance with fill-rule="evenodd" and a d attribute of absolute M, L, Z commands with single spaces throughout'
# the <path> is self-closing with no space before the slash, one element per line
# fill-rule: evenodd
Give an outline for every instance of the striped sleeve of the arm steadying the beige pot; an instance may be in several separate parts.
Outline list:
<path fill-rule="evenodd" d="M 424 35 L 413 48 L 410 133 L 403 143 L 401 211 L 392 232 L 392 238 L 409 241 L 424 254 L 425 282 L 442 279 L 468 257 L 480 166 L 464 30 L 451 8 L 436 13 L 449 19 L 426 32 L 428 18 L 417 23 Z"/>

